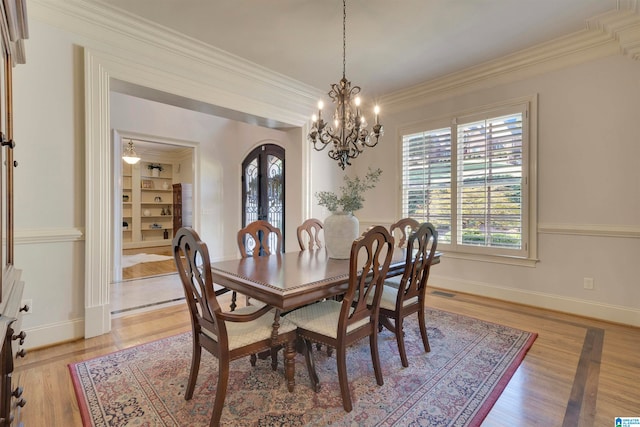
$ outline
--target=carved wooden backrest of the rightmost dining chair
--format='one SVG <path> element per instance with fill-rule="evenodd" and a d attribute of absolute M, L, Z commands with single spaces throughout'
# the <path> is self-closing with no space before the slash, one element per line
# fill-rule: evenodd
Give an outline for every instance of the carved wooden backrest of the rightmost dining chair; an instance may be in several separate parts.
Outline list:
<path fill-rule="evenodd" d="M 420 296 L 420 294 L 424 296 L 437 247 L 438 231 L 430 222 L 422 223 L 416 231 L 409 235 L 407 261 L 404 274 L 400 279 L 396 308 L 402 307 L 404 300 Z"/>

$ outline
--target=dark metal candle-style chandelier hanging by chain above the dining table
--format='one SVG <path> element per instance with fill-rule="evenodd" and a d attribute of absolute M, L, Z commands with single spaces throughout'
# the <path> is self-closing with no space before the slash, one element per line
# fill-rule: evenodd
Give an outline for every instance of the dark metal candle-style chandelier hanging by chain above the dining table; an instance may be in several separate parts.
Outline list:
<path fill-rule="evenodd" d="M 378 114 L 380 108 L 374 108 L 375 125 L 372 131 L 367 130 L 367 122 L 360 113 L 360 86 L 351 87 L 351 82 L 345 76 L 346 50 L 347 50 L 347 4 L 342 0 L 342 79 L 339 83 L 333 83 L 329 91 L 329 97 L 336 104 L 333 114 L 333 127 L 322 119 L 323 102 L 318 102 L 318 116 L 312 117 L 313 125 L 308 138 L 313 143 L 316 151 L 324 150 L 329 144 L 329 157 L 338 161 L 338 165 L 344 169 L 351 165 L 351 159 L 355 159 L 364 151 L 365 147 L 375 147 L 383 134 Z M 374 140 L 375 138 L 375 140 Z"/>

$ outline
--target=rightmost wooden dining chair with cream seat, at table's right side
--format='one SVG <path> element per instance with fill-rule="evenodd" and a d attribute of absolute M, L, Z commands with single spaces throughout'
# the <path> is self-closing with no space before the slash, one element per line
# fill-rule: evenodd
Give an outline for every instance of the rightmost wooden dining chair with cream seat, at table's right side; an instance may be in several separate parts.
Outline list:
<path fill-rule="evenodd" d="M 425 222 L 420 225 L 416 231 L 409 235 L 407 241 L 407 260 L 400 279 L 400 286 L 389 285 L 388 281 L 385 281 L 382 288 L 379 303 L 380 325 L 395 334 L 400 360 L 405 368 L 409 366 L 403 332 L 403 321 L 407 316 L 418 313 L 424 350 L 427 353 L 431 351 L 425 320 L 425 295 L 429 271 L 437 246 L 438 231 L 433 224 Z M 369 302 L 375 303 L 373 299 L 370 299 Z"/>

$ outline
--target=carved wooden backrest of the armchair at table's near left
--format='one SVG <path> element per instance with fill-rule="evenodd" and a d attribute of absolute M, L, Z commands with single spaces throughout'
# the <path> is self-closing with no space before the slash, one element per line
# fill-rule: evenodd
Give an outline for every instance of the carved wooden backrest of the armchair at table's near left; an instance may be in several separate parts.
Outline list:
<path fill-rule="evenodd" d="M 182 227 L 173 238 L 173 258 L 189 306 L 193 333 L 200 333 L 201 328 L 205 328 L 218 337 L 222 346 L 227 342 L 227 330 L 224 322 L 216 316 L 222 313 L 222 309 L 213 290 L 206 243 L 193 229 Z"/>

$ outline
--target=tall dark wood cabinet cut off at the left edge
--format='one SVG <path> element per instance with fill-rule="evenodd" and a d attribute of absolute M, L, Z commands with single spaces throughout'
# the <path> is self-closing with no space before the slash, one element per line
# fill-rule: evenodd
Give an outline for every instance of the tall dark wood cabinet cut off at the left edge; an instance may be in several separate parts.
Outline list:
<path fill-rule="evenodd" d="M 26 0 L 0 2 L 0 46 L 3 67 L 0 68 L 4 87 L 0 90 L 0 427 L 21 426 L 22 408 L 27 401 L 22 387 L 14 378 L 14 362 L 24 357 L 21 346 L 26 334 L 22 331 L 22 314 L 29 307 L 21 306 L 24 282 L 21 271 L 14 267 L 14 173 L 18 166 L 13 158 L 16 142 L 13 137 L 13 69 L 24 64 L 24 43 L 28 37 Z"/>

